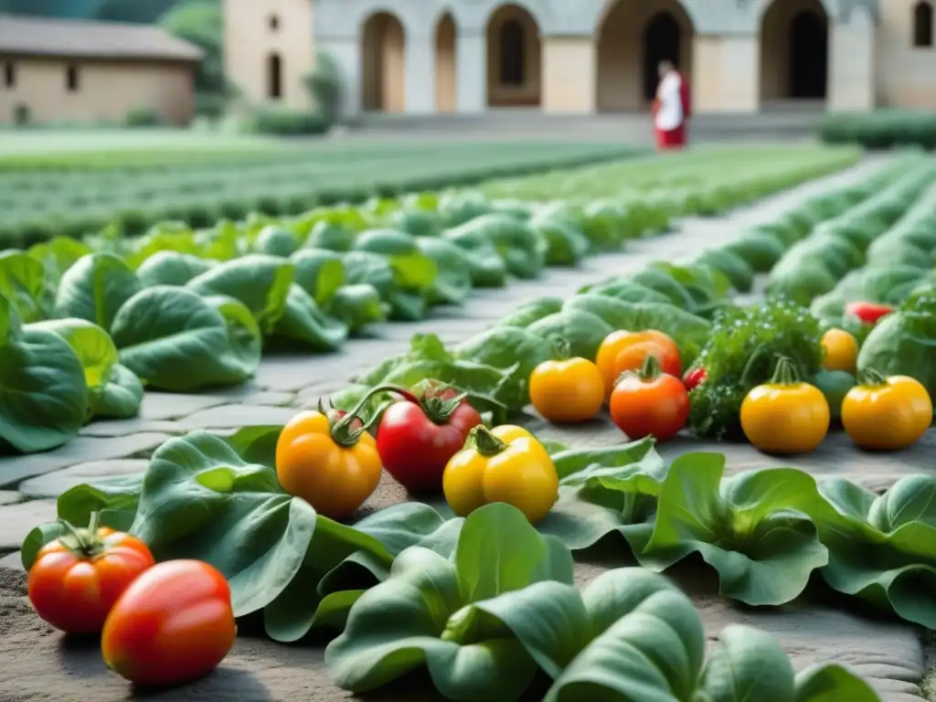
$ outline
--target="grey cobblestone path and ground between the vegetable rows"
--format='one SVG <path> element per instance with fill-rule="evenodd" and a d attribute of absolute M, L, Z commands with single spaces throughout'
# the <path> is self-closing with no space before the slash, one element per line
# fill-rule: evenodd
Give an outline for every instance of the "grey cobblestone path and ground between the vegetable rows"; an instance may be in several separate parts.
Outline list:
<path fill-rule="evenodd" d="M 2 459 L 0 566 L 20 567 L 17 549 L 23 536 L 37 523 L 54 518 L 57 495 L 80 482 L 144 471 L 148 455 L 172 435 L 194 429 L 231 431 L 242 426 L 283 423 L 299 408 L 312 407 L 319 397 L 344 387 L 362 369 L 404 350 L 418 331 L 438 333 L 445 342 L 461 341 L 486 329 L 524 301 L 543 295 L 570 296 L 580 285 L 609 274 L 636 271 L 651 260 L 677 258 L 728 241 L 744 227 L 772 220 L 802 197 L 863 178 L 871 167 L 870 161 L 865 162 L 729 217 L 686 220 L 676 233 L 634 242 L 624 253 L 593 258 L 576 270 L 550 270 L 537 281 L 513 282 L 504 290 L 475 292 L 463 308 L 439 310 L 431 319 L 414 324 L 376 329 L 371 338 L 347 344 L 341 354 L 265 358 L 256 378 L 241 388 L 200 395 L 148 393 L 138 418 L 96 422 L 78 439 L 55 451 Z M 607 422 L 595 422 L 570 431 L 537 423 L 534 429 L 544 438 L 576 445 L 620 443 L 621 434 L 608 426 Z M 936 437 L 929 436 L 912 451 L 869 458 L 833 437 L 818 452 L 796 464 L 816 475 L 843 475 L 872 489 L 883 489 L 901 475 L 925 470 L 929 466 L 926 457 L 932 456 L 934 447 Z M 750 446 L 700 445 L 689 439 L 667 444 L 662 452 L 674 456 L 700 449 L 723 452 L 729 474 L 777 464 Z M 388 481 L 375 493 L 372 506 L 402 499 L 402 490 Z M 614 565 L 609 563 L 608 567 Z M 603 566 L 594 563 L 581 564 L 578 578 L 585 581 L 602 570 Z M 874 621 L 865 613 L 847 611 L 841 603 L 806 599 L 767 610 L 739 608 L 715 595 L 716 589 L 700 570 L 688 569 L 676 577 L 693 593 L 710 638 L 725 624 L 753 623 L 780 639 L 797 669 L 817 661 L 837 660 L 855 666 L 869 678 L 885 702 L 921 699 L 918 683 L 926 656 L 918 632 L 910 625 Z M 22 577 L 0 569 L 0 595 L 5 581 L 22 592 Z M 51 630 L 35 620 L 22 596 L 10 597 L 8 592 L 7 588 L 6 599 L 0 597 L 0 700 L 105 702 L 124 698 L 125 687 L 107 675 L 94 647 L 65 651 L 59 637 L 50 636 Z M 173 700 L 253 701 L 292 699 L 297 693 L 323 702 L 353 698 L 330 685 L 322 670 L 321 649 L 289 648 L 254 639 L 240 639 L 224 668 L 210 679 L 168 697 L 159 696 Z M 397 693 L 382 698 L 433 698 L 414 690 Z"/>

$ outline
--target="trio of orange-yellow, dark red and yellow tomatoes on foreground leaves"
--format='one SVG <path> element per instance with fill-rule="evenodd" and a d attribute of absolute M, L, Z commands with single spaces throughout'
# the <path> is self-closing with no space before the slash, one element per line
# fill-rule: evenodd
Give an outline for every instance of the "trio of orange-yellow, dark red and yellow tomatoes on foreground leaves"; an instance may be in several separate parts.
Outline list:
<path fill-rule="evenodd" d="M 600 381 L 600 378 L 599 378 Z M 397 399 L 374 412 L 373 436 L 360 409 L 375 395 Z M 601 403 L 599 393 L 596 398 Z M 343 519 L 371 496 L 384 471 L 410 492 L 442 492 L 465 517 L 504 502 L 542 519 L 559 495 L 546 448 L 525 429 L 488 429 L 466 395 L 439 383 L 419 391 L 373 388 L 351 412 L 301 412 L 280 433 L 276 473 L 292 495 L 331 519 Z"/>

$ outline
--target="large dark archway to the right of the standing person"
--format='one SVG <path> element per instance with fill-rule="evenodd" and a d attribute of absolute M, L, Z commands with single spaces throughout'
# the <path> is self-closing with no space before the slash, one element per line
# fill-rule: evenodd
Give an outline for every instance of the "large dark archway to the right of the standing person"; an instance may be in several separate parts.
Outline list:
<path fill-rule="evenodd" d="M 774 0 L 760 22 L 761 103 L 825 100 L 829 15 L 821 0 Z"/>

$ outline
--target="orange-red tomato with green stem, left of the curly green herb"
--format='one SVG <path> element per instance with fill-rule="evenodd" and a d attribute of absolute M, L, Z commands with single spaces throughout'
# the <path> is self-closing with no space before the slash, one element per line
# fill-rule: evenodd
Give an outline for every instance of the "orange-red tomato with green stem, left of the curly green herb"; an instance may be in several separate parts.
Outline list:
<path fill-rule="evenodd" d="M 611 421 L 631 440 L 653 436 L 666 441 L 689 418 L 689 393 L 680 378 L 660 373 L 653 356 L 639 373 L 624 373 L 611 392 Z"/>

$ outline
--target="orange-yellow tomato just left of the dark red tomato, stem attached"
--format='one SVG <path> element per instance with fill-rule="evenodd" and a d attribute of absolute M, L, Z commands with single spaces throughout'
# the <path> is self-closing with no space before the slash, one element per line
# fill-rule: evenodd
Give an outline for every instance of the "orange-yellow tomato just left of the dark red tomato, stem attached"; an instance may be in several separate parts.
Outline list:
<path fill-rule="evenodd" d="M 280 485 L 331 519 L 342 519 L 363 505 L 382 472 L 373 436 L 353 415 L 337 419 L 300 412 L 276 442 Z"/>

